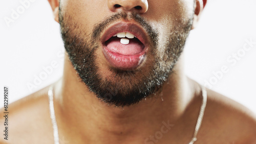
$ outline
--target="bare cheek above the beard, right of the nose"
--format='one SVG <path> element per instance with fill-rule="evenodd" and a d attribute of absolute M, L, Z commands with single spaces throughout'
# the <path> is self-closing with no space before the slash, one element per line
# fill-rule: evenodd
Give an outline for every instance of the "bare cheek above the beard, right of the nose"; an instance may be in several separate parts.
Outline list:
<path fill-rule="evenodd" d="M 167 36 L 181 32 L 194 15 L 194 0 L 151 0 L 148 5 L 145 17 L 159 32 L 159 47 L 165 47 Z"/>

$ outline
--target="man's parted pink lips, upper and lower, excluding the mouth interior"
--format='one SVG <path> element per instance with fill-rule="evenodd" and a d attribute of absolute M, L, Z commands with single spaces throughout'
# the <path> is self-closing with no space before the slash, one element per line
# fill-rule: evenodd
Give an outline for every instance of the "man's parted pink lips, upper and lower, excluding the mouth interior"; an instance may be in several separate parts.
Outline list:
<path fill-rule="evenodd" d="M 105 41 L 109 40 L 113 35 L 120 32 L 129 32 L 135 35 L 144 45 L 144 49 L 139 54 L 124 56 L 116 52 L 110 51 L 105 45 Z M 106 60 L 111 66 L 131 70 L 137 68 L 145 60 L 148 51 L 148 39 L 145 31 L 135 23 L 118 22 L 107 29 L 100 38 L 102 43 L 102 52 Z"/>

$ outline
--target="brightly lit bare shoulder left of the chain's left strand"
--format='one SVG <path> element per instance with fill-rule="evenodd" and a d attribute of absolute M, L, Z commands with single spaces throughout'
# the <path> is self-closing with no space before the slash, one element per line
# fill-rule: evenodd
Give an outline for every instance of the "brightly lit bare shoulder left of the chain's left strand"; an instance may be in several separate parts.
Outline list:
<path fill-rule="evenodd" d="M 51 119 L 48 101 L 48 88 L 45 87 L 27 97 L 20 99 L 8 106 L 8 120 L 5 117 L 0 118 L 1 130 L 8 128 L 8 135 L 0 136 L 0 143 L 28 143 L 36 142 L 48 136 L 51 139 Z M 4 108 L 0 109 L 1 113 Z M 6 139 L 4 139 L 7 137 Z M 39 139 L 38 139 L 39 138 Z M 46 139 L 45 139 L 46 140 Z M 45 141 L 48 142 L 48 141 Z"/>

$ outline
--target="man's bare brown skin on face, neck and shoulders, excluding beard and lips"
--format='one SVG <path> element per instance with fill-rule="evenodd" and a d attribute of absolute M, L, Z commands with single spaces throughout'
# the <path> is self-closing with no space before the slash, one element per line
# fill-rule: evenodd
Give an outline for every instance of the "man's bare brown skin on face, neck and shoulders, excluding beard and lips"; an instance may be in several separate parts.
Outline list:
<path fill-rule="evenodd" d="M 58 1 L 49 0 L 58 21 Z M 118 10 L 136 11 L 133 6 L 140 5 L 137 11 L 148 19 L 161 21 L 158 15 L 165 13 L 168 6 L 178 1 L 61 1 L 63 9 L 73 7 L 88 8 L 84 17 L 88 17 L 87 29 L 90 32 L 94 23 L 117 9 L 113 4 L 119 3 Z M 158 3 L 158 5 L 154 5 Z M 79 7 L 79 5 L 81 7 Z M 106 6 L 95 13 L 95 6 Z M 193 28 L 195 28 L 203 2 L 184 1 L 175 10 L 169 10 L 171 17 L 187 15 L 195 12 Z M 159 9 L 157 6 L 161 7 Z M 193 10 L 195 9 L 195 10 Z M 156 14 L 155 14 L 156 13 Z M 77 15 L 76 15 L 77 16 Z M 81 16 L 81 15 L 80 15 Z M 161 17 L 160 17 L 161 18 Z M 79 15 L 77 17 L 79 19 Z M 80 19 L 85 22 L 87 19 Z M 167 19 L 168 20 L 168 19 Z M 165 25 L 159 22 L 159 25 Z M 168 21 L 173 22 L 173 21 Z M 104 63 L 104 57 L 98 54 L 99 63 Z M 68 55 L 65 55 L 63 77 L 52 84 L 54 88 L 54 109 L 59 131 L 60 143 L 188 143 L 194 133 L 202 102 L 201 86 L 187 78 L 183 70 L 183 56 L 175 65 L 173 74 L 162 85 L 162 92 L 154 97 L 142 100 L 129 107 L 108 106 L 100 102 L 95 94 L 90 92 L 79 79 Z M 105 75 L 108 64 L 102 64 Z M 22 100 L 9 105 L 9 140 L 1 143 L 54 143 L 53 128 L 50 118 L 49 86 L 45 87 Z M 256 116 L 250 110 L 223 95 L 207 89 L 207 105 L 195 143 L 256 143 Z M 161 97 L 164 101 L 162 101 Z M 3 113 L 4 109 L 1 109 Z M 1 122 L 4 121 L 1 117 Z M 150 137 L 155 135 L 163 126 L 162 122 L 169 122 L 172 127 L 160 139 Z M 3 125 L 0 125 L 4 129 Z M 166 130 L 166 129 L 165 129 Z M 146 138 L 150 140 L 145 141 Z"/>

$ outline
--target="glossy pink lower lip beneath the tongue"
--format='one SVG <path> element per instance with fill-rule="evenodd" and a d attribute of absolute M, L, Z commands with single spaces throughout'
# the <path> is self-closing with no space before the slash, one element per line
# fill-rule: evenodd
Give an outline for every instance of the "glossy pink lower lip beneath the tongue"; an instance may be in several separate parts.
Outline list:
<path fill-rule="evenodd" d="M 144 50 L 136 55 L 124 56 L 113 51 L 110 51 L 103 46 L 103 54 L 108 62 L 115 68 L 122 70 L 132 70 L 137 68 L 145 59 L 145 47 Z"/>

